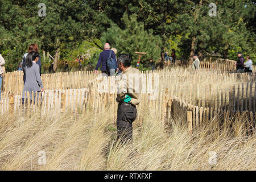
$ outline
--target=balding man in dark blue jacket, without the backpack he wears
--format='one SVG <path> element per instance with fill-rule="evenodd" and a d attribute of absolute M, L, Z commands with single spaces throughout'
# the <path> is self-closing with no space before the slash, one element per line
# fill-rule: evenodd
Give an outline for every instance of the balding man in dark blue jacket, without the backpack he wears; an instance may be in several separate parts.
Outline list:
<path fill-rule="evenodd" d="M 98 58 L 98 63 L 97 63 L 96 68 L 95 68 L 95 73 L 96 74 L 98 73 L 98 68 L 100 68 L 100 66 L 102 65 L 101 66 L 101 72 L 110 76 L 110 73 L 109 73 L 108 67 L 107 67 L 107 60 L 109 58 L 110 51 L 112 51 L 112 50 L 110 50 L 109 43 L 105 43 L 104 51 L 102 51 L 100 53 L 100 57 Z M 114 51 L 112 51 L 111 57 L 115 60 L 115 62 L 117 62 L 117 59 L 115 59 Z M 118 70 L 118 67 L 117 67 L 117 70 Z"/>

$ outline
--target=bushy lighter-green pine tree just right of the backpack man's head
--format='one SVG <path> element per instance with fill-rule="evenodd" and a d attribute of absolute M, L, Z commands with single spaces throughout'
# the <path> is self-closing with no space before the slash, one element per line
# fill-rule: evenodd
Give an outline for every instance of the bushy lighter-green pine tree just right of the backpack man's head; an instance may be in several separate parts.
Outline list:
<path fill-rule="evenodd" d="M 102 45 L 106 42 L 110 46 L 117 48 L 117 55 L 120 53 L 129 53 L 132 56 L 132 65 L 136 67 L 138 55 L 135 52 L 146 52 L 141 56 L 140 69 L 147 69 L 150 60 L 159 60 L 160 55 L 160 37 L 153 35 L 153 30 L 144 30 L 143 24 L 137 22 L 137 17 L 127 14 L 122 18 L 125 28 L 122 30 L 117 24 L 112 24 L 106 32 L 102 34 Z"/>

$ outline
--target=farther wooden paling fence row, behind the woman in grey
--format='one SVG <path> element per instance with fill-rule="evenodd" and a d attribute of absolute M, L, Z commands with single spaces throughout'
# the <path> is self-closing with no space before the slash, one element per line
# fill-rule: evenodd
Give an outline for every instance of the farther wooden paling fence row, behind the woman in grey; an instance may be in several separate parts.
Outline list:
<path fill-rule="evenodd" d="M 159 74 L 168 78 L 179 80 L 179 84 L 185 81 L 199 82 L 202 79 L 210 79 L 212 81 L 235 81 L 241 82 L 255 80 L 256 73 L 228 73 L 227 71 L 212 72 L 209 69 L 201 70 L 200 72 L 191 72 L 190 69 L 171 69 L 162 71 L 143 71 L 145 76 L 149 74 Z M 81 89 L 85 88 L 90 81 L 95 81 L 99 75 L 92 71 L 88 72 L 71 72 L 71 73 L 53 73 L 43 74 L 42 81 L 46 90 L 56 89 Z M 3 76 L 2 94 L 14 93 L 19 94 L 23 90 L 23 72 L 16 71 L 6 73 Z"/>

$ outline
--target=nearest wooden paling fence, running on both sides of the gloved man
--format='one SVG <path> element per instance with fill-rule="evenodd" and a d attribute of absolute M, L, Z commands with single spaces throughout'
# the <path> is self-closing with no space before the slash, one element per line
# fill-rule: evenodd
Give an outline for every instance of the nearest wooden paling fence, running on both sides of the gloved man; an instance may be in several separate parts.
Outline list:
<path fill-rule="evenodd" d="M 137 106 L 138 121 L 142 124 L 145 117 L 145 109 L 151 106 L 159 111 L 159 119 L 166 121 L 175 118 L 188 125 L 190 131 L 200 129 L 201 126 L 209 125 L 209 122 L 214 122 L 216 127 L 225 125 L 230 119 L 239 116 L 241 121 L 245 123 L 246 130 L 251 134 L 255 129 L 256 111 L 236 111 L 234 113 L 229 109 L 214 109 L 213 107 L 199 107 L 191 104 L 186 104 L 185 101 L 177 97 L 170 97 L 168 90 L 160 94 L 156 100 L 148 99 L 150 94 L 142 94 L 141 104 Z M 82 113 L 90 108 L 94 113 L 100 113 L 110 107 L 113 122 L 115 122 L 117 114 L 117 102 L 115 102 L 116 94 L 99 93 L 97 86 L 90 85 L 88 89 L 70 89 L 70 90 L 47 90 L 42 96 L 32 93 L 32 100 L 24 100 L 22 104 L 22 96 L 10 96 L 3 99 L 3 107 L 0 113 L 13 113 L 16 116 L 30 114 L 33 111 L 42 115 L 56 116 L 65 112 L 67 109 L 72 109 L 74 113 L 81 110 Z M 28 98 L 30 98 L 28 93 Z M 35 102 L 35 103 L 34 103 Z M 164 125 L 164 123 L 162 122 Z"/>

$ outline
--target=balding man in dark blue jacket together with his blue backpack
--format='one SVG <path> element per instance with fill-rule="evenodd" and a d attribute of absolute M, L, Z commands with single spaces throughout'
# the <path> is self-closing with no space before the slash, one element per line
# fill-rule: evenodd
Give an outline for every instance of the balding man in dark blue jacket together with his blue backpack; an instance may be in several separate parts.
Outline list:
<path fill-rule="evenodd" d="M 102 65 L 102 66 L 101 66 Z M 116 71 L 118 71 L 117 60 L 115 59 L 114 51 L 110 50 L 109 43 L 105 43 L 104 51 L 100 53 L 100 57 L 98 58 L 98 63 L 95 68 L 95 73 L 98 73 L 98 68 L 101 66 L 101 72 L 106 75 L 114 75 Z"/>

